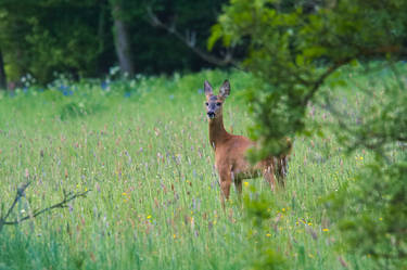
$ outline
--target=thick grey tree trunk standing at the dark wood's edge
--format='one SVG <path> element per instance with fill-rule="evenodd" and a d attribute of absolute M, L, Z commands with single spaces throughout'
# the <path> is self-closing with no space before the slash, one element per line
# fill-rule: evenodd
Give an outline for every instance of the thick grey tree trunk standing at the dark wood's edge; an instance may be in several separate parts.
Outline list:
<path fill-rule="evenodd" d="M 131 49 L 128 38 L 128 31 L 125 22 L 123 21 L 120 4 L 118 3 L 118 1 L 114 1 L 112 5 L 115 47 L 118 63 L 122 73 L 131 75 L 135 73 L 135 67 L 131 60 Z"/>

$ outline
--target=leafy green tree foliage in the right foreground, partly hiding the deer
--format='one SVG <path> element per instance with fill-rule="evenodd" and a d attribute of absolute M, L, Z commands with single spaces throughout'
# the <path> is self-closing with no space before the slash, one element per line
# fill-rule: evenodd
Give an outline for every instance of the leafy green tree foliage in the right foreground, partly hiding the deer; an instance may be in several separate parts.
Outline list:
<path fill-rule="evenodd" d="M 379 268 L 382 262 L 405 267 L 406 156 L 390 153 L 407 142 L 407 81 L 404 64 L 395 63 L 407 52 L 407 2 L 318 1 L 309 9 L 310 2 L 282 7 L 275 0 L 232 0 L 213 27 L 208 47 L 217 40 L 226 47 L 249 44 L 243 65 L 257 79 L 247 92 L 255 119 L 252 137 L 263 144 L 255 159 L 284 152 L 285 136 L 323 136 L 327 126 L 346 151 L 376 153 L 357 183 L 333 196 L 336 211 L 331 213 L 356 254 L 374 256 Z M 349 65 L 366 74 L 367 86 L 341 76 L 339 69 Z M 392 80 L 380 81 L 378 70 Z M 376 99 L 358 104 L 355 115 L 346 99 L 343 106 L 333 104 L 341 97 L 339 86 Z M 327 108 L 335 125 L 313 123 L 313 105 Z M 382 217 L 383 224 L 371 222 L 372 217 Z"/>

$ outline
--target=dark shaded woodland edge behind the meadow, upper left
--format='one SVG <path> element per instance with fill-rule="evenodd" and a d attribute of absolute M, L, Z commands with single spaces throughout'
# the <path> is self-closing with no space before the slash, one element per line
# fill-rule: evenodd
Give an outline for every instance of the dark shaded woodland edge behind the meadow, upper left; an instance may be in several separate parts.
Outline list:
<path fill-rule="evenodd" d="M 226 2 L 0 0 L 0 88 L 26 74 L 46 83 L 55 73 L 101 77 L 115 65 L 127 74 L 213 66 L 191 48 L 206 52 Z M 167 28 L 157 27 L 153 16 Z M 220 50 L 214 53 L 221 57 Z"/>

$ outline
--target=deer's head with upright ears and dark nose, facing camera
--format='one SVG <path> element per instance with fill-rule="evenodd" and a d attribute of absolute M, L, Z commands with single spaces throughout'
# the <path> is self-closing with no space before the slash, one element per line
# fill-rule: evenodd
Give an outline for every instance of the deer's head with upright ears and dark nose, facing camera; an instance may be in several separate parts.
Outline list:
<path fill-rule="evenodd" d="M 214 90 L 212 89 L 211 83 L 205 80 L 204 83 L 205 95 L 206 95 L 206 115 L 211 119 L 221 117 L 221 105 L 225 102 L 225 99 L 230 94 L 230 83 L 229 80 L 225 80 L 219 89 L 219 94 L 214 95 Z"/>

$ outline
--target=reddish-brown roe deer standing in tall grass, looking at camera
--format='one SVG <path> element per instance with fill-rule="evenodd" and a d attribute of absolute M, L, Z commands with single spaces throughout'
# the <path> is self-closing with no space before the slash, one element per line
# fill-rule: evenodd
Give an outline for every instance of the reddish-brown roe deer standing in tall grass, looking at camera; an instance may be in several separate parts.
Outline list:
<path fill-rule="evenodd" d="M 220 200 L 225 208 L 225 198 L 229 198 L 232 181 L 239 195 L 242 193 L 242 180 L 263 176 L 275 190 L 275 172 L 279 182 L 284 185 L 283 178 L 287 173 L 287 156 L 268 157 L 256 165 L 251 165 L 245 157 L 246 151 L 255 146 L 255 142 L 243 136 L 228 133 L 224 127 L 222 104 L 230 94 L 230 83 L 225 80 L 219 94 L 214 95 L 212 86 L 205 80 L 206 115 L 209 121 L 209 142 L 215 150 L 215 168 L 219 175 Z M 289 139 L 289 151 L 291 141 Z"/>

